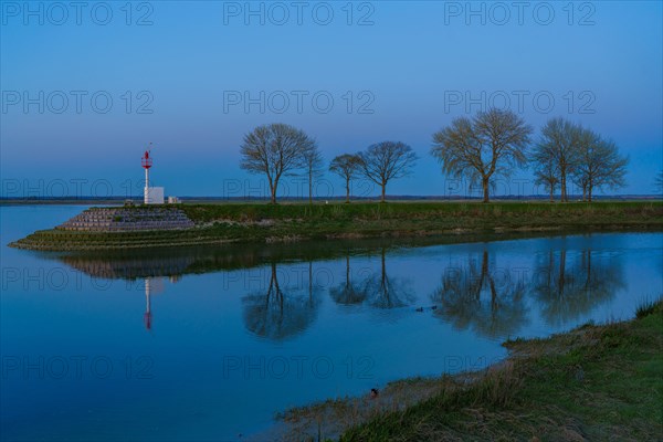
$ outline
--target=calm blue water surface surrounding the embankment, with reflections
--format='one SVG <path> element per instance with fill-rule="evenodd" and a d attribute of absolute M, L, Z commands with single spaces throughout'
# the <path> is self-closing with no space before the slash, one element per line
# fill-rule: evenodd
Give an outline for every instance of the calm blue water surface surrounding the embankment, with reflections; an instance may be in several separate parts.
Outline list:
<path fill-rule="evenodd" d="M 82 209 L 0 209 L 2 440 L 236 440 L 290 407 L 484 367 L 508 337 L 628 318 L 663 293 L 661 233 L 6 246 Z"/>

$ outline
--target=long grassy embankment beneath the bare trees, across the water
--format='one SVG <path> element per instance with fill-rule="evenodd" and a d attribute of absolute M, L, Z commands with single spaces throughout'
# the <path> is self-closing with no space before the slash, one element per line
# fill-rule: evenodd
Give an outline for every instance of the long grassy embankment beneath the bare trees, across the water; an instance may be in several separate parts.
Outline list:
<path fill-rule="evenodd" d="M 182 204 L 194 229 L 145 232 L 44 230 L 14 245 L 94 250 L 224 242 L 444 235 L 523 231 L 663 230 L 663 202 L 390 202 Z"/>

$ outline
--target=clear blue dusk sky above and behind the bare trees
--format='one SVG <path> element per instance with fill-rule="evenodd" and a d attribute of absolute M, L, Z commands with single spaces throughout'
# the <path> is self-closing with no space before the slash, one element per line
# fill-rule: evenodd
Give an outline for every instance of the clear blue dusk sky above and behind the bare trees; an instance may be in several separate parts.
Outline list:
<path fill-rule="evenodd" d="M 0 4 L 2 196 L 138 194 L 149 141 L 167 194 L 255 196 L 265 182 L 239 169 L 239 146 L 276 122 L 327 160 L 407 143 L 420 160 L 389 193 L 463 194 L 431 136 L 491 104 L 535 137 L 564 116 L 612 138 L 631 159 L 622 193 L 651 193 L 663 168 L 657 1 Z M 497 188 L 535 190 L 527 171 Z"/>

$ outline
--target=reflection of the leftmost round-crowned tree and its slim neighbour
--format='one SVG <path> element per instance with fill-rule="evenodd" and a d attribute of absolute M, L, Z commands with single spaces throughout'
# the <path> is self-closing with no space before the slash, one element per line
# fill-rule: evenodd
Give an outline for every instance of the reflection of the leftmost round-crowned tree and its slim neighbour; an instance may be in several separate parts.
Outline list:
<path fill-rule="evenodd" d="M 283 340 L 305 330 L 315 319 L 318 297 L 313 284 L 309 263 L 309 281 L 299 281 L 295 287 L 282 287 L 276 263 L 270 265 L 266 292 L 245 296 L 243 302 L 246 328 L 257 336 Z"/>

